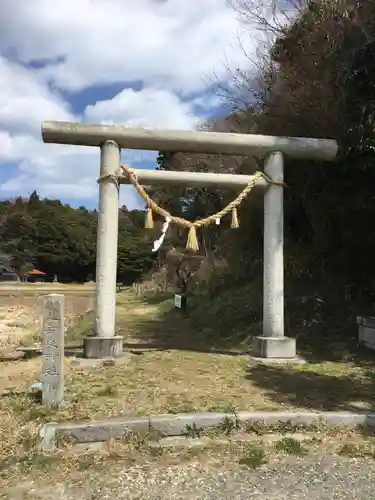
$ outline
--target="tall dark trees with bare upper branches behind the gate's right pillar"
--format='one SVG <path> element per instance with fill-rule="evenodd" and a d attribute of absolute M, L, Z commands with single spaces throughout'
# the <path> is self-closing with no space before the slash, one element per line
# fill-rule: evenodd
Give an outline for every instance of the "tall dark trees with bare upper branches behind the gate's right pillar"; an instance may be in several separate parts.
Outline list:
<path fill-rule="evenodd" d="M 206 125 L 214 130 L 335 138 L 333 164 L 286 159 L 286 275 L 333 280 L 341 289 L 374 288 L 372 255 L 375 204 L 375 4 L 360 0 L 296 1 L 275 12 L 270 2 L 233 0 L 246 23 L 265 33 L 266 50 L 251 72 L 231 86 L 233 112 Z M 281 2 L 280 2 L 281 5 Z M 254 69 L 256 71 L 254 71 Z M 234 90 L 233 90 L 234 89 Z M 238 91 L 238 96 L 236 95 Z M 248 99 L 244 99 L 248 96 Z M 228 95 L 227 95 L 228 97 Z M 233 162 L 214 155 L 161 153 L 159 168 L 253 173 L 254 158 Z M 157 190 L 173 213 L 202 217 L 231 194 L 207 190 Z M 215 232 L 214 245 L 233 274 L 249 276 L 262 258 L 262 197 L 241 209 L 241 227 Z M 215 228 L 216 229 L 216 228 Z M 232 279 L 232 283 L 236 280 Z M 328 282 L 328 281 L 327 281 Z"/>

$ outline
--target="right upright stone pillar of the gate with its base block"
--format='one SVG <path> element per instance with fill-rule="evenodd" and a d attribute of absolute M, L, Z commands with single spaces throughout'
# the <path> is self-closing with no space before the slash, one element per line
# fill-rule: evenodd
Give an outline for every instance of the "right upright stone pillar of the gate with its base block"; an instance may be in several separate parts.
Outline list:
<path fill-rule="evenodd" d="M 283 181 L 283 154 L 270 153 L 264 171 Z M 283 187 L 270 184 L 264 194 L 263 334 L 254 340 L 254 355 L 294 358 L 295 339 L 284 337 L 284 207 Z"/>

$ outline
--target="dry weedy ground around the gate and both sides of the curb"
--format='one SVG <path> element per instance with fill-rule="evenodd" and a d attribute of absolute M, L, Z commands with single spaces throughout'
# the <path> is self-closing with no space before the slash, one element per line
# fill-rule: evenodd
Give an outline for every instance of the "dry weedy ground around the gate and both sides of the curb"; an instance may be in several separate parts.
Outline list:
<path fill-rule="evenodd" d="M 15 359 L 12 355 L 17 346 L 40 343 L 38 296 L 43 293 L 19 293 L 0 302 L 0 321 L 7 326 L 0 338 L 0 474 L 4 485 L 14 484 L 20 475 L 24 480 L 44 477 L 52 484 L 56 475 L 61 481 L 89 467 L 99 470 L 108 462 L 115 471 L 116 467 L 147 463 L 215 462 L 221 457 L 255 469 L 273 457 L 303 459 L 317 449 L 342 456 L 375 456 L 372 436 L 361 430 L 315 429 L 301 440 L 293 437 L 295 429 L 277 428 L 272 431 L 279 439 L 270 444 L 262 426 L 246 430 L 257 439 L 237 441 L 233 439 L 236 429 L 229 424 L 217 430 L 225 438 L 222 442 L 213 440 L 203 447 L 185 447 L 182 452 L 150 447 L 138 440 L 113 441 L 95 453 L 79 451 L 71 443 L 57 453 L 43 453 L 37 447 L 38 433 L 51 420 L 194 411 L 368 410 L 375 399 L 371 361 L 253 364 L 240 349 L 226 349 L 219 342 L 213 345 L 214 332 L 200 331 L 190 316 L 173 308 L 170 296 L 141 298 L 129 290 L 118 294 L 117 333 L 124 338 L 130 360 L 100 368 L 76 365 L 74 354 L 92 328 L 92 290 L 85 295 L 69 294 L 66 289 L 69 404 L 61 409 L 44 408 L 38 394 L 30 390 L 30 384 L 40 379 L 40 357 Z M 198 429 L 187 429 L 187 434 L 201 437 Z"/>

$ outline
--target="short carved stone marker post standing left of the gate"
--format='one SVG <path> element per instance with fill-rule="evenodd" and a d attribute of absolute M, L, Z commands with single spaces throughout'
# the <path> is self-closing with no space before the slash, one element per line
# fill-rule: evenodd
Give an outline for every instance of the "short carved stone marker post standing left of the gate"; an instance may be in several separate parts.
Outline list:
<path fill-rule="evenodd" d="M 58 406 L 64 398 L 64 295 L 44 297 L 42 403 Z"/>

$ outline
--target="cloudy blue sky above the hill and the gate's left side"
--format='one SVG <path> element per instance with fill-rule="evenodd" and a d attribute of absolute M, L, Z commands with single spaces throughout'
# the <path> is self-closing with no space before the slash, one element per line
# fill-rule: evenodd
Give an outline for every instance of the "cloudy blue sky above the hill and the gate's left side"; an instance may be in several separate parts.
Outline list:
<path fill-rule="evenodd" d="M 99 151 L 43 144 L 43 120 L 193 129 L 254 37 L 225 0 L 0 0 L 0 198 L 95 207 Z M 156 153 L 124 151 L 133 168 Z M 121 202 L 138 205 L 130 187 Z"/>

